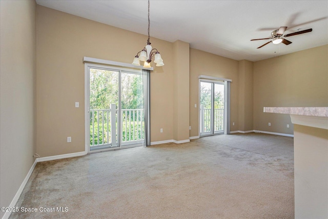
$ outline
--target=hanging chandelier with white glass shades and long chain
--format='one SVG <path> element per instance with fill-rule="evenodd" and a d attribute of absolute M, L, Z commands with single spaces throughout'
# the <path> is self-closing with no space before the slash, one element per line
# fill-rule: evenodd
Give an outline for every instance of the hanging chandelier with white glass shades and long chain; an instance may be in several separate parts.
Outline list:
<path fill-rule="evenodd" d="M 150 39 L 150 19 L 149 19 L 149 0 L 148 0 L 148 40 L 147 45 L 137 53 L 137 55 L 133 59 L 132 65 L 140 66 L 140 61 L 145 62 L 144 68 L 151 68 L 150 63 L 154 58 L 154 63 L 156 66 L 163 66 L 163 59 L 161 58 L 157 49 L 152 49 L 151 43 L 149 42 Z"/>

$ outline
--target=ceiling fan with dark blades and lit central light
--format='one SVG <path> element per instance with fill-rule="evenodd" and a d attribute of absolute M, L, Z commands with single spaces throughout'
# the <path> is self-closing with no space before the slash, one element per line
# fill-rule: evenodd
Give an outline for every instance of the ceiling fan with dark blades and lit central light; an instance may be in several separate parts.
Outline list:
<path fill-rule="evenodd" d="M 268 43 L 263 44 L 260 47 L 257 47 L 257 49 L 259 49 L 259 48 L 261 48 L 261 47 L 263 47 L 263 46 L 265 46 L 265 45 L 267 45 L 269 43 L 273 43 L 273 44 L 283 43 L 285 45 L 289 45 L 292 42 L 288 41 L 284 37 L 295 36 L 295 35 L 298 35 L 298 34 L 308 33 L 308 32 L 311 32 L 312 31 L 312 28 L 311 28 L 311 29 L 307 29 L 307 30 L 302 30 L 302 31 L 294 32 L 294 33 L 289 33 L 289 34 L 286 34 L 286 35 L 282 36 L 283 35 L 283 32 L 285 32 L 286 29 L 287 29 L 287 27 L 280 27 L 278 30 L 274 30 L 274 31 L 271 32 L 271 37 L 269 37 L 269 38 L 261 38 L 261 39 L 271 39 L 271 41 L 269 41 Z M 259 41 L 261 39 L 251 39 L 251 41 Z"/>

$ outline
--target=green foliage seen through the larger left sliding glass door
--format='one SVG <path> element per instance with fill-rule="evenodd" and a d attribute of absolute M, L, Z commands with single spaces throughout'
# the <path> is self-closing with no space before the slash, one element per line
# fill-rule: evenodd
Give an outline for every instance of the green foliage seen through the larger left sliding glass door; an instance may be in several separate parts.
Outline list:
<path fill-rule="evenodd" d="M 144 105 L 142 94 L 142 75 L 121 72 L 120 81 L 123 124 L 122 142 L 141 140 L 145 136 L 145 126 L 143 122 L 144 111 L 142 110 Z M 103 69 L 90 69 L 91 146 L 111 143 L 110 107 L 111 104 L 115 104 L 117 109 L 119 99 L 118 89 L 119 72 Z M 94 111 L 95 109 L 101 109 L 101 111 Z M 136 111 L 125 111 L 125 109 L 139 110 L 137 114 Z M 117 138 L 117 113 L 115 129 Z M 117 141 L 117 139 L 115 139 L 115 141 Z"/>

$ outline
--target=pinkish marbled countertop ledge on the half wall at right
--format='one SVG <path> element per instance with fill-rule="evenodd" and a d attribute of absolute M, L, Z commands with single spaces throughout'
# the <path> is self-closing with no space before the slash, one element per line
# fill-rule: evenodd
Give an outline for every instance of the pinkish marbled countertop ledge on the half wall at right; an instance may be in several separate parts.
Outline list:
<path fill-rule="evenodd" d="M 328 107 L 264 107 L 263 112 L 328 117 Z"/>

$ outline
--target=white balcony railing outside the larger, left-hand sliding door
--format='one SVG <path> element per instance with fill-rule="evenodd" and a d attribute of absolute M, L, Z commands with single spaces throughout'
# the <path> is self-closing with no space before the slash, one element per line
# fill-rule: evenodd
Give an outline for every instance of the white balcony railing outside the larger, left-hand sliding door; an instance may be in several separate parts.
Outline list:
<path fill-rule="evenodd" d="M 90 110 L 90 148 L 117 145 L 117 112 L 115 104 L 111 105 L 111 109 Z M 122 109 L 121 120 L 122 144 L 144 140 L 143 109 Z"/>

